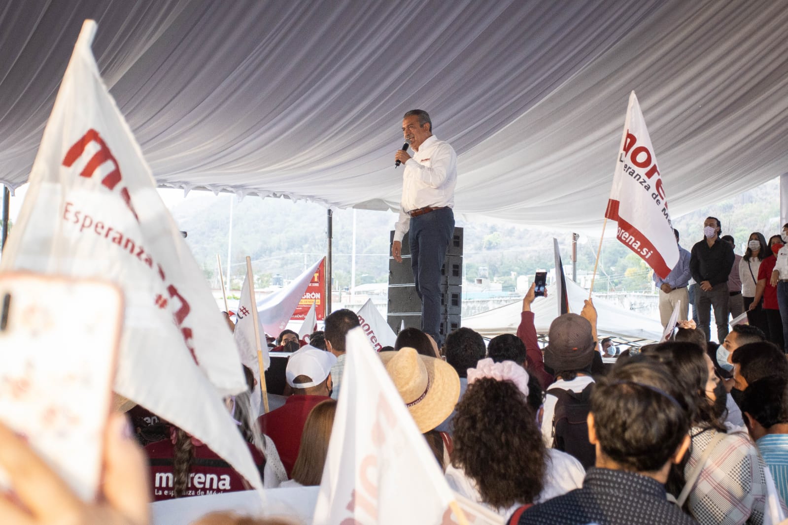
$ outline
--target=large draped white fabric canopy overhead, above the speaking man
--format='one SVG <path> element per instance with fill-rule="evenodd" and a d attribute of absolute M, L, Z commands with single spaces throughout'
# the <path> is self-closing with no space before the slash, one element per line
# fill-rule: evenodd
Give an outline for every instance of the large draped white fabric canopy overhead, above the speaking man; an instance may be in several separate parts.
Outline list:
<path fill-rule="evenodd" d="M 418 107 L 459 153 L 459 213 L 593 229 L 632 90 L 674 215 L 788 172 L 783 2 L 61 0 L 0 9 L 9 187 L 85 18 L 162 187 L 396 208 Z"/>

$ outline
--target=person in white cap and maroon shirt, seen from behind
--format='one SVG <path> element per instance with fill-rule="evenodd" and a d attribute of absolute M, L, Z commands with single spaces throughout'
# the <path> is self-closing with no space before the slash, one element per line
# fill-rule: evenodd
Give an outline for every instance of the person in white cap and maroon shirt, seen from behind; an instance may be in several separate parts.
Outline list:
<path fill-rule="evenodd" d="M 293 353 L 285 371 L 292 395 L 284 405 L 259 417 L 260 431 L 273 439 L 284 470 L 290 477 L 301 446 L 301 433 L 309 412 L 330 399 L 331 367 L 336 357 L 330 352 L 304 346 Z"/>

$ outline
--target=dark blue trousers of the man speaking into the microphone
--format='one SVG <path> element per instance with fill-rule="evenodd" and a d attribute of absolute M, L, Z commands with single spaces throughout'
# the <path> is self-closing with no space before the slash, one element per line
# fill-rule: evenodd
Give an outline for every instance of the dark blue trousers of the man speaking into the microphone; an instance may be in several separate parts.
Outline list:
<path fill-rule="evenodd" d="M 411 218 L 408 238 L 416 293 L 422 300 L 422 331 L 440 347 L 440 267 L 454 235 L 454 212 L 437 209 Z"/>

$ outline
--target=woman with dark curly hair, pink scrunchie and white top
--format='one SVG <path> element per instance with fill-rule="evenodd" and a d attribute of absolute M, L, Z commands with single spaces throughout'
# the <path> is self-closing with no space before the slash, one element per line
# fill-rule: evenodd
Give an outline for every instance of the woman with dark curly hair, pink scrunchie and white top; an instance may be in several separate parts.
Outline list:
<path fill-rule="evenodd" d="M 585 475 L 578 460 L 545 449 L 528 379 L 513 361 L 480 360 L 456 407 L 448 484 L 500 516 L 578 488 Z"/>

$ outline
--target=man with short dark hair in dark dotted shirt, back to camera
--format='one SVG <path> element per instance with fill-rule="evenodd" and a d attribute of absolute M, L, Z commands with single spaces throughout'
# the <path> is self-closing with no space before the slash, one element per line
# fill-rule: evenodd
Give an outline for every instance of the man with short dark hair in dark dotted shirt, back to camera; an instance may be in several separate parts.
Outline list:
<path fill-rule="evenodd" d="M 665 365 L 637 360 L 600 378 L 591 394 L 589 440 L 597 467 L 582 489 L 515 511 L 520 525 L 696 523 L 667 501 L 671 464 L 689 448 L 689 401 Z M 626 430 L 626 431 L 625 431 Z"/>

